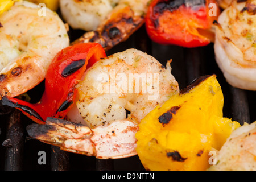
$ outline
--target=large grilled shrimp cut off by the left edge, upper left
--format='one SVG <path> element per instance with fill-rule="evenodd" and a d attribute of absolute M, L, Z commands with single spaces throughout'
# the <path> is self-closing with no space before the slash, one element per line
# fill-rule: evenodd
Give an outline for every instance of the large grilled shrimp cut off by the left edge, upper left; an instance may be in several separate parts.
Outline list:
<path fill-rule="evenodd" d="M 43 81 L 51 60 L 69 38 L 56 13 L 46 10 L 39 16 L 38 6 L 15 2 L 0 15 L 0 94 L 18 96 Z"/>

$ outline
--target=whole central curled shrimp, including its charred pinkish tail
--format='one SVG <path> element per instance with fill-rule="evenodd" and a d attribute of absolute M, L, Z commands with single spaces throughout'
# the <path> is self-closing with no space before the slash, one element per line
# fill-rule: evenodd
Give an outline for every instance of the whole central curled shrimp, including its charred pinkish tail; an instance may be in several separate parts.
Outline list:
<path fill-rule="evenodd" d="M 165 68 L 137 49 L 101 59 L 81 80 L 68 121 L 47 118 L 45 125 L 29 125 L 30 137 L 101 159 L 133 156 L 137 154 L 138 123 L 156 105 L 179 93 L 170 61 Z"/>

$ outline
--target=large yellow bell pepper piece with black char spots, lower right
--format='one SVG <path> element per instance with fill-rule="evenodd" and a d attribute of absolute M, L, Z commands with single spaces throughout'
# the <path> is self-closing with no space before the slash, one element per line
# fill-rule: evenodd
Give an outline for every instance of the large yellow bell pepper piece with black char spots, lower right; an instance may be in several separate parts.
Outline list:
<path fill-rule="evenodd" d="M 240 124 L 223 118 L 224 97 L 216 75 L 197 79 L 139 123 L 137 152 L 147 170 L 206 170 Z"/>

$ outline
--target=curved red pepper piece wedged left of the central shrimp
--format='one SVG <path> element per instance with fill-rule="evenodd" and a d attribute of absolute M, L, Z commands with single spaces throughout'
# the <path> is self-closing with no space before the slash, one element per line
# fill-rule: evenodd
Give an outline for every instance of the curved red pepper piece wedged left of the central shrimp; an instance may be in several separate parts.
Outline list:
<path fill-rule="evenodd" d="M 75 103 L 76 84 L 86 68 L 106 57 L 98 43 L 82 43 L 61 50 L 46 73 L 45 90 L 41 100 L 31 104 L 17 98 L 4 96 L 2 104 L 21 110 L 33 121 L 44 124 L 47 117 L 64 118 Z"/>

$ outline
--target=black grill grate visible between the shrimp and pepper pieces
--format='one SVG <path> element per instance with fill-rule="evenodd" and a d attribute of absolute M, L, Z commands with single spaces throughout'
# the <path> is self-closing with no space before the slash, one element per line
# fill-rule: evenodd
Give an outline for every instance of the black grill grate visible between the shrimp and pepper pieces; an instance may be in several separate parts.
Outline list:
<path fill-rule="evenodd" d="M 71 41 L 78 38 L 82 31 L 71 30 Z M 155 57 L 163 65 L 172 59 L 172 75 L 179 82 L 180 89 L 185 88 L 199 76 L 217 75 L 224 93 L 224 117 L 235 121 L 248 123 L 256 120 L 255 92 L 241 90 L 230 86 L 222 75 L 214 60 L 213 44 L 199 48 L 182 48 L 177 46 L 162 46 L 151 42 L 146 30 L 141 27 L 126 42 L 115 46 L 107 55 L 137 48 Z M 30 90 L 31 102 L 40 99 L 44 82 Z M 0 122 L 0 169 L 1 170 L 143 170 L 138 156 L 126 159 L 100 160 L 85 155 L 61 151 L 58 147 L 27 138 L 26 126 L 33 123 L 20 114 L 18 110 L 1 107 Z M 5 114 L 3 114 L 5 113 Z M 46 152 L 46 164 L 39 165 L 39 151 Z"/>

